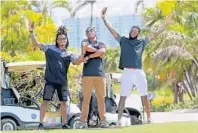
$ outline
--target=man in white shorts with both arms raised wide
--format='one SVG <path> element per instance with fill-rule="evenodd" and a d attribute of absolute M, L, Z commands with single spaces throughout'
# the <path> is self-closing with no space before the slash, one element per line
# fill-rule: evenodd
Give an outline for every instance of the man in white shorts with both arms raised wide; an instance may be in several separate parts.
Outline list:
<path fill-rule="evenodd" d="M 117 126 L 121 126 L 121 116 L 125 106 L 125 100 L 127 96 L 131 94 L 133 85 L 137 87 L 139 95 L 143 99 L 147 113 L 147 123 L 150 123 L 150 105 L 147 97 L 148 88 L 146 74 L 142 70 L 142 54 L 148 42 L 166 29 L 167 25 L 171 22 L 172 14 L 167 17 L 165 24 L 156 32 L 151 33 L 148 37 L 139 38 L 140 28 L 138 26 L 132 26 L 129 37 L 120 36 L 120 34 L 107 22 L 105 18 L 106 11 L 107 8 L 103 8 L 101 17 L 105 26 L 120 43 L 121 48 L 119 68 L 122 69 L 123 72 L 121 81 L 121 96 L 118 105 Z"/>

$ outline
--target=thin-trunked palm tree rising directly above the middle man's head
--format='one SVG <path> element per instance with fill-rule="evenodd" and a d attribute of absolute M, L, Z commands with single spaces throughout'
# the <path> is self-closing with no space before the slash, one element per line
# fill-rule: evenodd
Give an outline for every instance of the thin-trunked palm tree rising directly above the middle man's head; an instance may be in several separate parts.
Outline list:
<path fill-rule="evenodd" d="M 74 18 L 76 16 L 76 12 L 79 11 L 82 7 L 90 4 L 91 5 L 91 14 L 90 14 L 90 26 L 92 26 L 93 23 L 93 5 L 96 2 L 96 0 L 84 0 L 84 1 L 78 1 L 77 6 L 72 10 L 71 17 Z"/>

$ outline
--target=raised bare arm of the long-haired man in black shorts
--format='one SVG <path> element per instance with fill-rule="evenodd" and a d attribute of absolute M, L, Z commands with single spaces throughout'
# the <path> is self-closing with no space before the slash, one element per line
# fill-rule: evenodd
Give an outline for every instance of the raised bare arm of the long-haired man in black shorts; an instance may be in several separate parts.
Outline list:
<path fill-rule="evenodd" d="M 41 47 L 41 44 L 37 41 L 35 35 L 34 35 L 34 23 L 29 21 L 29 32 L 30 32 L 30 37 L 31 37 L 31 40 L 32 40 L 32 43 L 33 45 L 37 46 L 37 47 Z"/>

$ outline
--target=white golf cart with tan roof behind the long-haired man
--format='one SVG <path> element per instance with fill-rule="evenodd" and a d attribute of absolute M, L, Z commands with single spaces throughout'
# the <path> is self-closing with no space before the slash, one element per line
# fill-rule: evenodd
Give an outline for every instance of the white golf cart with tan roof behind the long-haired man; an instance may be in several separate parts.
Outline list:
<path fill-rule="evenodd" d="M 43 70 L 45 62 L 1 62 L 1 130 L 35 129 L 39 124 L 40 103 L 38 97 L 42 97 L 43 85 L 30 97 L 20 96 L 17 88 L 10 88 L 10 72 L 29 72 L 31 70 Z M 38 82 L 37 82 L 38 84 Z M 47 112 L 44 118 L 46 128 L 61 127 L 59 106 L 54 112 Z M 50 114 L 51 113 L 51 114 Z M 71 102 L 67 102 L 67 120 L 71 128 L 76 128 L 80 121 L 80 110 Z M 54 115 L 56 114 L 56 115 Z"/>

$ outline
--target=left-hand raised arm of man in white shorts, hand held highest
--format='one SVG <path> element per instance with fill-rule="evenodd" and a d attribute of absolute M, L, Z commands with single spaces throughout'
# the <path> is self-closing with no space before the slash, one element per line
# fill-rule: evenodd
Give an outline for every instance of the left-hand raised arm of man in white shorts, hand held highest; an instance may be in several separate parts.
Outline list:
<path fill-rule="evenodd" d="M 111 34 L 114 36 L 114 38 L 120 42 L 120 35 L 119 33 L 111 26 L 111 24 L 106 20 L 106 11 L 107 7 L 104 7 L 101 11 L 101 18 L 105 24 L 105 26 L 108 28 L 108 30 L 111 32 Z"/>

